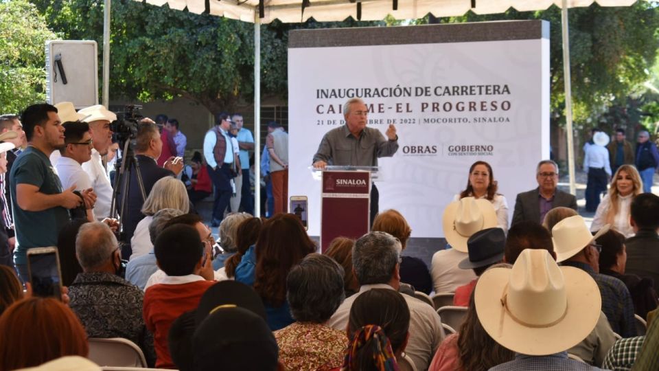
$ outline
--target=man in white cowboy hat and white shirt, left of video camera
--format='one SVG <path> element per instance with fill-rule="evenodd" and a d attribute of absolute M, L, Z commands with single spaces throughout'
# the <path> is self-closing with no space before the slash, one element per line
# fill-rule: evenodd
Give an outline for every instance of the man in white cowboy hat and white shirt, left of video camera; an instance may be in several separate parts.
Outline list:
<path fill-rule="evenodd" d="M 97 194 L 94 215 L 98 220 L 103 220 L 110 217 L 112 184 L 101 157 L 107 155 L 112 144 L 110 123 L 117 120 L 117 115 L 101 104 L 81 109 L 78 113 L 87 116 L 84 122 L 89 123 L 89 133 L 93 141 L 91 159 L 82 164 L 82 170 L 89 175 L 91 187 Z"/>

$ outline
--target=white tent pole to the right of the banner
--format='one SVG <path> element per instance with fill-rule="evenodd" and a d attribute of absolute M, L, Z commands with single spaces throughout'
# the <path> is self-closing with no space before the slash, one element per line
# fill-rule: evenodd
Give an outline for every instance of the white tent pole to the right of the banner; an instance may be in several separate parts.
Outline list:
<path fill-rule="evenodd" d="M 561 26 L 563 34 L 563 78 L 565 84 L 565 130 L 568 135 L 568 175 L 570 193 L 577 194 L 575 186 L 575 144 L 572 127 L 572 87 L 570 85 L 570 34 L 568 24 L 568 1 L 563 0 L 561 8 Z"/>

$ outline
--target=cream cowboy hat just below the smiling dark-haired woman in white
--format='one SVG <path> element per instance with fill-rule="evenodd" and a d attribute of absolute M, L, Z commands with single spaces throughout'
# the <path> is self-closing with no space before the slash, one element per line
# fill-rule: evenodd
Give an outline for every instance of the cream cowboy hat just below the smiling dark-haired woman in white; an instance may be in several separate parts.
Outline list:
<path fill-rule="evenodd" d="M 472 234 L 497 225 L 492 203 L 485 199 L 464 197 L 444 209 L 444 237 L 454 249 L 467 252 L 467 240 Z"/>

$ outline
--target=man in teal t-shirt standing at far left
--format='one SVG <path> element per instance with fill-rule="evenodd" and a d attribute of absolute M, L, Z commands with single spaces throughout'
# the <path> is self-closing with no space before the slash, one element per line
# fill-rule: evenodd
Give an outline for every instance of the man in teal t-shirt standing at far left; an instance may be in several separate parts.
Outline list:
<path fill-rule="evenodd" d="M 34 104 L 21 116 L 27 149 L 14 162 L 10 190 L 16 228 L 14 263 L 26 282 L 27 249 L 56 246 L 60 229 L 69 222 L 69 209 L 82 205 L 73 193 L 76 186 L 62 190 L 60 179 L 50 163 L 50 154 L 64 145 L 64 127 L 57 109 L 50 104 Z M 92 190 L 82 192 L 88 207 L 95 201 Z"/>

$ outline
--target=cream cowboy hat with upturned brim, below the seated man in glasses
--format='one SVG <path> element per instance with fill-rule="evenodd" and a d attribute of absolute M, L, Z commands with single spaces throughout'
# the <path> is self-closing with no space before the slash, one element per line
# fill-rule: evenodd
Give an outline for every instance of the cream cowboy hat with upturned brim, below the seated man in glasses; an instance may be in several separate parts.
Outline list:
<path fill-rule="evenodd" d="M 603 226 L 593 236 L 581 215 L 570 216 L 559 221 L 551 229 L 551 240 L 554 244 L 556 261 L 562 262 L 575 256 L 592 241 L 608 232 L 610 225 Z"/>

